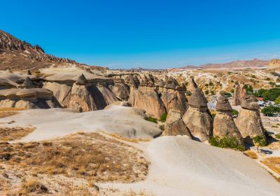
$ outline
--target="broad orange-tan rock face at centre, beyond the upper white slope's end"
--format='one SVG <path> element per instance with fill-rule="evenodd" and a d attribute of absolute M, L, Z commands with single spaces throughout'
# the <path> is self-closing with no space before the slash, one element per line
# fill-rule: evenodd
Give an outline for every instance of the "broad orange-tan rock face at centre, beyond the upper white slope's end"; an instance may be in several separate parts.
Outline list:
<path fill-rule="evenodd" d="M 139 86 L 130 90 L 130 104 L 137 109 L 144 109 L 147 116 L 160 118 L 166 113 L 165 105 L 155 91 L 155 87 Z"/>

